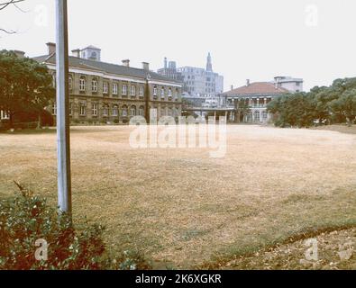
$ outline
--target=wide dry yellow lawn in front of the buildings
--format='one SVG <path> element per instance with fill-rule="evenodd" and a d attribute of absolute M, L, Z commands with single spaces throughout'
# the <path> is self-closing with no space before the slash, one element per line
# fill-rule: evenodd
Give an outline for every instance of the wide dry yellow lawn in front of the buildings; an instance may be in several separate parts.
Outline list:
<path fill-rule="evenodd" d="M 71 133 L 75 219 L 105 224 L 116 249 L 200 266 L 307 229 L 356 223 L 356 135 L 228 126 L 207 149 L 133 149 L 129 127 Z M 0 197 L 13 180 L 56 203 L 56 134 L 0 134 Z"/>

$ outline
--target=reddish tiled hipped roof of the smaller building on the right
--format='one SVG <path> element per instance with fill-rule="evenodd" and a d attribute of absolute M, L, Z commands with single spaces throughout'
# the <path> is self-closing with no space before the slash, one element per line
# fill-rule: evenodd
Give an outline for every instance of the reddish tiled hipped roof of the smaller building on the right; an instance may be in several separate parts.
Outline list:
<path fill-rule="evenodd" d="M 282 87 L 276 87 L 273 83 L 269 82 L 254 82 L 250 85 L 244 85 L 239 88 L 227 91 L 225 95 L 236 95 L 236 94 L 286 94 L 288 90 Z"/>

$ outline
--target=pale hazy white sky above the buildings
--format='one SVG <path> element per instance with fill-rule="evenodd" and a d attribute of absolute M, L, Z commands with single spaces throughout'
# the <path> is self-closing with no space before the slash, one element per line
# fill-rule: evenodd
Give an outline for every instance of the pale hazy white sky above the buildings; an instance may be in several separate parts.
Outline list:
<path fill-rule="evenodd" d="M 0 0 L 0 3 L 4 0 Z M 0 49 L 46 54 L 55 41 L 54 0 L 26 0 L 0 11 Z M 68 0 L 69 49 L 95 45 L 102 60 L 133 67 L 163 58 L 205 67 L 210 51 L 215 72 L 230 85 L 305 79 L 308 90 L 337 77 L 356 76 L 355 0 Z"/>

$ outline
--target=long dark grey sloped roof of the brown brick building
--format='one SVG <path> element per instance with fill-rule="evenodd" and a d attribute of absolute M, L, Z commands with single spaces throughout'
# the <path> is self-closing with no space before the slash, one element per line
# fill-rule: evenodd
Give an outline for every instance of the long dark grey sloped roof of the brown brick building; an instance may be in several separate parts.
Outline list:
<path fill-rule="evenodd" d="M 40 57 L 33 58 L 34 60 L 41 63 L 56 64 L 56 55 L 44 55 Z M 146 78 L 147 71 L 135 67 L 126 67 L 123 65 L 110 64 L 95 60 L 89 60 L 84 58 L 69 56 L 69 67 L 78 67 L 82 69 L 95 70 L 99 72 L 104 72 L 107 74 L 114 74 L 118 76 L 132 76 L 135 78 Z M 165 81 L 169 83 L 181 84 L 178 81 L 170 79 L 166 76 L 160 76 L 160 74 L 150 71 L 150 76 L 152 80 Z"/>

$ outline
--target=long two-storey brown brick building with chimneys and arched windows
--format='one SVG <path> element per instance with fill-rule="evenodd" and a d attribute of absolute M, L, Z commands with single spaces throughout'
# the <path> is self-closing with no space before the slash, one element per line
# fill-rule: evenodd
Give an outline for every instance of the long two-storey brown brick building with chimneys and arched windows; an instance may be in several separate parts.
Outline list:
<path fill-rule="evenodd" d="M 34 59 L 49 67 L 55 85 L 56 47 L 54 43 L 47 46 L 48 54 Z M 145 116 L 146 103 L 149 109 L 157 109 L 159 118 L 181 114 L 182 84 L 152 72 L 149 63 L 135 68 L 129 60 L 123 60 L 122 65 L 101 62 L 101 49 L 94 46 L 72 52 L 68 61 L 71 122 L 127 122 L 133 116 Z M 48 109 L 55 117 L 54 100 Z"/>

